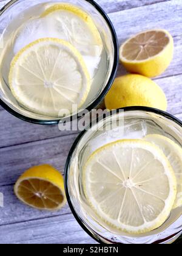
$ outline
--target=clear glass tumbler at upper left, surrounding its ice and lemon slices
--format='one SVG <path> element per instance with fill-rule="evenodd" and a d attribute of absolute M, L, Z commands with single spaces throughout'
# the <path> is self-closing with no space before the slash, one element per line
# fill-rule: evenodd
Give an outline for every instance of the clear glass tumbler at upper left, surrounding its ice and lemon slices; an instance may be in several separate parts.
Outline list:
<path fill-rule="evenodd" d="M 10 63 L 15 54 L 11 50 L 4 53 L 4 49 L 7 46 L 11 33 L 18 29 L 25 21 L 31 19 L 32 16 L 41 15 L 44 5 L 61 2 L 74 4 L 89 13 L 101 35 L 104 48 L 89 96 L 84 105 L 80 109 L 78 108 L 77 112 L 73 112 L 71 117 L 81 113 L 83 109 L 90 111 L 103 100 L 113 83 L 118 66 L 118 41 L 115 29 L 106 13 L 96 2 L 91 0 L 12 0 L 8 2 L 0 11 L 0 104 L 8 112 L 31 123 L 56 124 L 62 116 L 40 115 L 25 108 L 16 101 L 8 84 Z M 66 118 L 70 119 L 70 115 L 66 116 Z"/>

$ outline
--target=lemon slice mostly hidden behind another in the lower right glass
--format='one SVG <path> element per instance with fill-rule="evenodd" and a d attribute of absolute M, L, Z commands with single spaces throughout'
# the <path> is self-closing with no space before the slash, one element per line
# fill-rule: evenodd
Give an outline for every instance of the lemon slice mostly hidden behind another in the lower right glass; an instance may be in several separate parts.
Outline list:
<path fill-rule="evenodd" d="M 177 198 L 174 208 L 182 205 L 182 149 L 174 141 L 162 135 L 147 135 L 145 140 L 156 144 L 168 158 L 170 165 L 174 169 L 177 177 Z"/>

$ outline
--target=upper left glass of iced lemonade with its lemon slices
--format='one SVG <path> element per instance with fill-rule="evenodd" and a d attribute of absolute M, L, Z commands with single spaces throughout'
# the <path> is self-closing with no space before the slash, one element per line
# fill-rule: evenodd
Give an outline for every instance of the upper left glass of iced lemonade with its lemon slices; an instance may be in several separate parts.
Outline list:
<path fill-rule="evenodd" d="M 115 30 L 93 1 L 10 1 L 0 35 L 1 105 L 25 121 L 56 124 L 91 110 L 115 78 Z"/>

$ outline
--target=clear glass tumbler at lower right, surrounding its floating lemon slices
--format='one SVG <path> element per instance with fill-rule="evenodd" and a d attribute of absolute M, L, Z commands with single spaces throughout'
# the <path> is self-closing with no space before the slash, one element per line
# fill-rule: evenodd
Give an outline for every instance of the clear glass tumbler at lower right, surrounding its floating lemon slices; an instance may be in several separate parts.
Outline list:
<path fill-rule="evenodd" d="M 182 233 L 182 207 L 172 210 L 167 221 L 158 229 L 143 235 L 129 235 L 99 218 L 84 194 L 83 167 L 93 151 L 112 141 L 141 139 L 149 134 L 163 135 L 182 147 L 180 120 L 154 108 L 127 107 L 112 115 L 109 113 L 106 118 L 92 124 L 79 135 L 70 150 L 65 169 L 67 200 L 81 227 L 99 243 L 172 243 Z"/>

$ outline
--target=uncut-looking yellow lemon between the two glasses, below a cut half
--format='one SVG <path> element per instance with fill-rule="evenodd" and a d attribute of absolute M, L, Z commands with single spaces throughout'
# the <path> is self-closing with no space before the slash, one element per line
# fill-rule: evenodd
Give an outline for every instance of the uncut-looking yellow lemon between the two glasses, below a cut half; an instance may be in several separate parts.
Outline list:
<path fill-rule="evenodd" d="M 105 98 L 109 110 L 144 106 L 167 110 L 167 99 L 163 90 L 151 79 L 139 74 L 127 74 L 115 79 Z"/>

